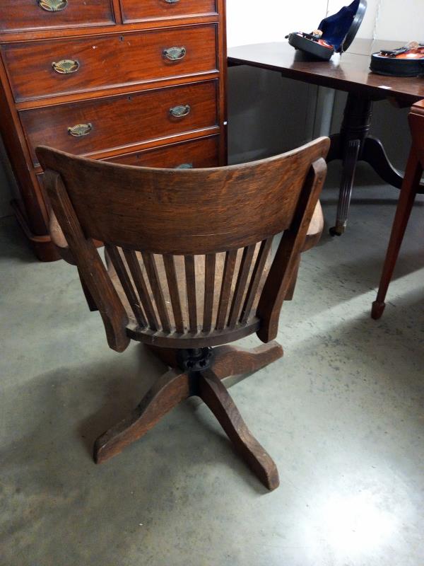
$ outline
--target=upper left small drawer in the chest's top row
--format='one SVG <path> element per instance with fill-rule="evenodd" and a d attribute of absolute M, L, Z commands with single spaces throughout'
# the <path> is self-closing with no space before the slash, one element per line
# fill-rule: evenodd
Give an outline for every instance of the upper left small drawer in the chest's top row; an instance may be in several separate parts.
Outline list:
<path fill-rule="evenodd" d="M 111 0 L 1 0 L 0 32 L 112 23 Z"/>

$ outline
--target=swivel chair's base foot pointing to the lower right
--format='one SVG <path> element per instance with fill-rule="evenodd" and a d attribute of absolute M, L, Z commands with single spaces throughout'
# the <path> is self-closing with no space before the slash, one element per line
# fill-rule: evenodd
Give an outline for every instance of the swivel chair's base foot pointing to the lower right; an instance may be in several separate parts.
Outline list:
<path fill-rule="evenodd" d="M 202 371 L 199 376 L 199 396 L 211 409 L 237 452 L 259 480 L 269 490 L 275 490 L 280 483 L 275 463 L 264 447 L 252 436 L 230 393 L 212 369 Z"/>

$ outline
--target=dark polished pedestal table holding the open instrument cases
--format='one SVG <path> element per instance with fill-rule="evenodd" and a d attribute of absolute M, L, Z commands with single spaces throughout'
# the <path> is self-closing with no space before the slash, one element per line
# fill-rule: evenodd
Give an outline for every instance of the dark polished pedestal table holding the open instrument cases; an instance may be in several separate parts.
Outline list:
<path fill-rule="evenodd" d="M 406 108 L 424 98 L 423 79 L 381 76 L 369 69 L 372 52 L 399 45 L 401 42 L 359 39 L 348 52 L 335 55 L 329 62 L 307 59 L 286 42 L 242 45 L 228 50 L 230 66 L 271 69 L 289 79 L 348 92 L 341 131 L 331 137 L 327 158 L 327 161 L 343 161 L 336 222 L 330 229 L 333 236 L 340 236 L 346 229 L 358 161 L 369 163 L 389 185 L 401 187 L 402 175 L 389 162 L 381 141 L 369 135 L 375 100 L 391 99 Z M 418 192 L 424 192 L 423 186 Z"/>

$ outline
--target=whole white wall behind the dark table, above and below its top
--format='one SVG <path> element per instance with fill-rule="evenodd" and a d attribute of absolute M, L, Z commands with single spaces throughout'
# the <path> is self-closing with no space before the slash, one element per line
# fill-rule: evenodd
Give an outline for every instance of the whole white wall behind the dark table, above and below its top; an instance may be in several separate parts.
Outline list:
<path fill-rule="evenodd" d="M 348 0 L 270 0 L 259 10 L 251 0 L 249 4 L 228 0 L 228 45 L 282 41 L 290 31 L 317 27 L 327 13 L 336 13 L 346 4 Z M 424 0 L 368 0 L 358 37 L 399 40 L 399 45 L 424 40 Z M 312 134 L 326 133 L 314 124 L 319 122 L 321 110 L 317 93 L 323 89 L 281 79 L 272 71 L 247 68 L 229 69 L 228 85 L 229 154 L 233 163 L 285 151 Z M 340 127 L 345 100 L 346 93 L 336 92 L 332 131 Z M 314 107 L 318 112 L 315 116 L 311 112 Z M 382 139 L 398 168 L 404 167 L 410 147 L 407 113 L 407 109 L 399 110 L 387 102 L 375 103 L 372 134 Z"/>

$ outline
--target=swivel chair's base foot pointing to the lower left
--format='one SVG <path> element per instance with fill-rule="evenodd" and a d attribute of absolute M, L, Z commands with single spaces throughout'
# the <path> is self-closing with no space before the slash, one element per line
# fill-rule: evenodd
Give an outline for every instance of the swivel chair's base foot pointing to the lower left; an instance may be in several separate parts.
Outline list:
<path fill-rule="evenodd" d="M 119 454 L 151 429 L 167 412 L 189 397 L 189 378 L 171 369 L 156 381 L 129 417 L 102 434 L 94 443 L 95 463 Z"/>

